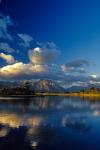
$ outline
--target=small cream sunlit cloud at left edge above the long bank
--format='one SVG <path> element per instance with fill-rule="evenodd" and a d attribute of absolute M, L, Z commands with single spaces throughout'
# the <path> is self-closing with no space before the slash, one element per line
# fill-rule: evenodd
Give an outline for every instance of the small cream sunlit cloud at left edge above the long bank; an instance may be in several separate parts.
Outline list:
<path fill-rule="evenodd" d="M 8 64 L 15 63 L 15 59 L 12 55 L 7 55 L 4 53 L 0 53 L 0 58 L 4 59 Z"/>

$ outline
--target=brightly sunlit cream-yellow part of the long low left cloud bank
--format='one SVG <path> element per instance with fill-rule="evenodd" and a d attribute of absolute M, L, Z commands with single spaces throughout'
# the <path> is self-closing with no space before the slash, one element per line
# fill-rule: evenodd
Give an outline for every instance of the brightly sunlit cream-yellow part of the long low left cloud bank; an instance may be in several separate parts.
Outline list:
<path fill-rule="evenodd" d="M 36 73 L 46 73 L 48 71 L 48 67 L 44 65 L 32 65 L 32 64 L 24 64 L 22 62 L 15 63 L 13 65 L 7 65 L 0 68 L 0 76 L 9 78 L 9 77 L 20 77 L 31 76 Z"/>

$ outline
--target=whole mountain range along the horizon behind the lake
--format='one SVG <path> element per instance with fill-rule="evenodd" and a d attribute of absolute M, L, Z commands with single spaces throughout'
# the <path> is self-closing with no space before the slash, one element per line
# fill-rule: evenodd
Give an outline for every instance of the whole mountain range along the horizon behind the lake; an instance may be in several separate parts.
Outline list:
<path fill-rule="evenodd" d="M 38 81 L 28 81 L 30 84 L 31 90 L 35 92 L 49 92 L 49 93 L 63 93 L 63 92 L 79 92 L 83 89 L 87 90 L 88 88 L 95 87 L 100 88 L 100 85 L 89 84 L 87 86 L 72 86 L 70 88 L 64 88 L 60 83 L 53 80 L 38 80 Z M 12 88 L 18 86 L 24 86 L 25 81 L 0 81 L 0 88 Z"/>

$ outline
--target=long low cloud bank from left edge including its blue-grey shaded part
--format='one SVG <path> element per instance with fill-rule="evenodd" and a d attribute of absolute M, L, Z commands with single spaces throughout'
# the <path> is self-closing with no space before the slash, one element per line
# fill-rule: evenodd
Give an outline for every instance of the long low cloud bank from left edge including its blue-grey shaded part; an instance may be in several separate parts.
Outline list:
<path fill-rule="evenodd" d="M 23 62 L 17 62 L 12 65 L 7 65 L 0 68 L 0 78 L 2 79 L 57 79 L 60 76 L 60 72 L 57 75 L 57 67 L 52 65 L 33 65 L 31 63 L 24 64 Z"/>

